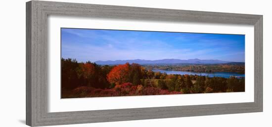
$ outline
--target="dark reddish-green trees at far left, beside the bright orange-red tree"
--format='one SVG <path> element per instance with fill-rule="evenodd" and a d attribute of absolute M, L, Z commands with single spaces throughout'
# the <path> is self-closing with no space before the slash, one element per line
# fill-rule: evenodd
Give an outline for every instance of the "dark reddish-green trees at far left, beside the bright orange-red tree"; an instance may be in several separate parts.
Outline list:
<path fill-rule="evenodd" d="M 61 59 L 61 87 L 74 89 L 79 86 L 107 88 L 110 86 L 106 79 L 111 66 L 99 66 L 90 61 L 78 63 L 75 59 Z"/>

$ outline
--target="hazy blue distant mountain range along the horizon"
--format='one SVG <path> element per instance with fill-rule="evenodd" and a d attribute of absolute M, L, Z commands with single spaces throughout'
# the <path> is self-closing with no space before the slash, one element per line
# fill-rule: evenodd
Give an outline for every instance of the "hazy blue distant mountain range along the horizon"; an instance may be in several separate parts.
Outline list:
<path fill-rule="evenodd" d="M 223 64 L 223 63 L 231 63 L 233 61 L 222 61 L 222 60 L 201 60 L 201 59 L 161 59 L 161 60 L 142 60 L 142 59 L 134 59 L 134 60 L 107 60 L 107 61 L 95 61 L 96 64 L 100 65 L 114 65 L 114 64 L 125 64 L 125 63 L 137 63 L 137 64 L 179 64 L 179 63 L 190 63 L 190 64 Z"/>

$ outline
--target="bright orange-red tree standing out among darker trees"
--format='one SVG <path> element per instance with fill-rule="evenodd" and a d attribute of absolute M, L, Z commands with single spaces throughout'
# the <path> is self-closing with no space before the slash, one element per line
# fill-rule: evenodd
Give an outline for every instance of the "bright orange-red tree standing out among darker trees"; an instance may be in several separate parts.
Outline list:
<path fill-rule="evenodd" d="M 121 85 L 129 80 L 129 63 L 115 66 L 107 75 L 107 80 L 111 84 Z"/>

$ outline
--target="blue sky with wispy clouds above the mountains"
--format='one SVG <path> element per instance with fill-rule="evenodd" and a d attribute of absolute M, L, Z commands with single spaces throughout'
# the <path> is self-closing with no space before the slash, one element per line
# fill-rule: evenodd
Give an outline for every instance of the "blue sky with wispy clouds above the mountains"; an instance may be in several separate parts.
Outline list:
<path fill-rule="evenodd" d="M 245 61 L 245 36 L 61 28 L 61 57 L 79 62 L 128 59 Z"/>

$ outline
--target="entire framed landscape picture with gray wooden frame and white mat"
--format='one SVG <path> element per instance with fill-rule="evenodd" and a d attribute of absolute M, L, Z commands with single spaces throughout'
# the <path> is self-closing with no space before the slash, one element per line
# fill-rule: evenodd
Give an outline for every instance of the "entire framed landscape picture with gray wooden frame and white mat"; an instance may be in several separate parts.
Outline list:
<path fill-rule="evenodd" d="M 26 124 L 263 111 L 263 16 L 32 0 Z"/>

